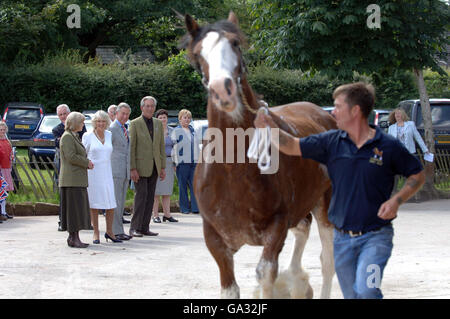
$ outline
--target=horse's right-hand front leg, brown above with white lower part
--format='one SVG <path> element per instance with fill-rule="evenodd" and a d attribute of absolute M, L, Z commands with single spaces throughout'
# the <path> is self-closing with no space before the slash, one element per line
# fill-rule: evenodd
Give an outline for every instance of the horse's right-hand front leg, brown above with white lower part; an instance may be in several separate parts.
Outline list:
<path fill-rule="evenodd" d="M 256 268 L 262 298 L 272 298 L 274 282 L 278 275 L 278 256 L 287 236 L 287 221 L 276 218 L 264 231 L 264 250 Z"/>

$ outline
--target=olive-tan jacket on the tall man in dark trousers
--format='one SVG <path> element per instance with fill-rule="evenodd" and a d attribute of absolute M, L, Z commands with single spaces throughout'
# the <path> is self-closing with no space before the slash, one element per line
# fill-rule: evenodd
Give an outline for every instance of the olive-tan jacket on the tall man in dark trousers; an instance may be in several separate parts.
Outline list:
<path fill-rule="evenodd" d="M 153 140 L 142 115 L 130 123 L 130 169 L 137 169 L 142 177 L 152 175 L 153 164 L 156 164 L 158 175 L 161 174 L 162 168 L 166 168 L 162 122 L 156 118 L 152 120 Z"/>

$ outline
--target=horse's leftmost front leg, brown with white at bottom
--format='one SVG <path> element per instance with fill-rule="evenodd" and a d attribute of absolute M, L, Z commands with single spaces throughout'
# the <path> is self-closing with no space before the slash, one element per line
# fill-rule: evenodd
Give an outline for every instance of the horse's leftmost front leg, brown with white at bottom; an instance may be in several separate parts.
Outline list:
<path fill-rule="evenodd" d="M 238 299 L 239 286 L 234 277 L 233 255 L 236 251 L 230 249 L 215 229 L 203 219 L 203 234 L 206 246 L 216 260 L 220 271 L 221 298 Z"/>

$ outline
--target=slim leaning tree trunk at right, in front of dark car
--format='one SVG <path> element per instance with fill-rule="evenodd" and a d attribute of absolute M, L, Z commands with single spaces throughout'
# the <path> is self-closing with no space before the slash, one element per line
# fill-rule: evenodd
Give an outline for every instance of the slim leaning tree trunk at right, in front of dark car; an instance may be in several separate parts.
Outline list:
<path fill-rule="evenodd" d="M 431 107 L 428 98 L 427 88 L 423 79 L 423 71 L 414 69 L 414 74 L 417 80 L 417 87 L 419 88 L 420 105 L 422 106 L 422 118 L 425 129 L 425 144 L 428 150 L 436 154 L 434 147 L 433 125 L 431 122 Z M 422 189 L 414 195 L 415 201 L 426 201 L 439 198 L 439 191 L 434 187 L 434 162 L 425 161 L 425 184 Z"/>

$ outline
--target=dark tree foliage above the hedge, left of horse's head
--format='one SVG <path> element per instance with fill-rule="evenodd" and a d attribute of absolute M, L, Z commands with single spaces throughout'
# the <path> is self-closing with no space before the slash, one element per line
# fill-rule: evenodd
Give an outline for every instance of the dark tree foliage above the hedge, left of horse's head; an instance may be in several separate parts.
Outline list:
<path fill-rule="evenodd" d="M 178 54 L 184 25 L 176 17 L 190 13 L 200 21 L 224 17 L 239 0 L 2 0 L 0 62 L 40 61 L 45 55 L 78 49 L 84 61 L 99 45 L 123 49 L 148 47 L 157 61 Z M 80 8 L 80 28 L 69 28 L 69 5 Z"/>

